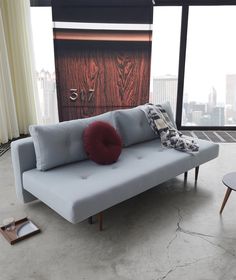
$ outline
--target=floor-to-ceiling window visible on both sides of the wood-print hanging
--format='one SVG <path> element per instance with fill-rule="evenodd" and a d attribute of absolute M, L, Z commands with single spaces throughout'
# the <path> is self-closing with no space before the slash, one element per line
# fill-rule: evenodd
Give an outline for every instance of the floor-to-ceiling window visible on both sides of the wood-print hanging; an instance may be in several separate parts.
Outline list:
<path fill-rule="evenodd" d="M 215 0 L 217 6 L 214 6 L 214 0 L 156 2 L 153 11 L 150 102 L 169 101 L 182 128 L 235 128 L 236 0 Z M 229 6 L 226 6 L 227 3 Z M 55 78 L 54 69 L 51 68 L 54 65 L 51 26 L 46 27 L 46 24 L 51 25 L 51 8 L 33 9 L 38 10 L 33 13 L 32 20 L 41 104 L 45 122 L 51 122 L 49 115 L 57 114 L 56 94 L 45 94 L 43 89 L 45 75 L 50 81 Z M 44 10 L 44 14 L 36 15 L 40 9 L 47 9 L 47 12 Z M 51 32 L 51 38 L 47 39 L 50 47 L 45 43 L 45 32 L 48 31 Z M 54 86 L 51 83 L 48 85 L 55 93 L 55 80 Z M 50 98 L 51 101 L 46 102 Z M 49 114 L 54 109 L 45 104 L 54 104 L 56 113 Z"/>

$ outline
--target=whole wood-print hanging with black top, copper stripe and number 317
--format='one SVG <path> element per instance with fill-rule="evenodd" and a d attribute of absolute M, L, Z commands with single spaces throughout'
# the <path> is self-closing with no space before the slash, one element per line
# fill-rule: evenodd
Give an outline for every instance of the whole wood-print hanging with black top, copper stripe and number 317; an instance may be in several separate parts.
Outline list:
<path fill-rule="evenodd" d="M 153 16 L 151 0 L 52 0 L 52 12 L 57 23 L 95 25 L 148 25 Z M 152 31 L 77 28 L 54 28 L 60 121 L 148 102 Z"/>

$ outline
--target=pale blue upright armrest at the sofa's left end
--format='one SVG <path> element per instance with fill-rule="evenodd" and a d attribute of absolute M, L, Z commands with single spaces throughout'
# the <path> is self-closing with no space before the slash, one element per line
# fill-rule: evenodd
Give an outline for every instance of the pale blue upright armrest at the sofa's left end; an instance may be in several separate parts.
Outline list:
<path fill-rule="evenodd" d="M 16 195 L 22 202 L 30 202 L 36 198 L 23 188 L 22 175 L 25 171 L 36 168 L 36 156 L 31 137 L 11 143 L 11 157 L 15 177 Z"/>

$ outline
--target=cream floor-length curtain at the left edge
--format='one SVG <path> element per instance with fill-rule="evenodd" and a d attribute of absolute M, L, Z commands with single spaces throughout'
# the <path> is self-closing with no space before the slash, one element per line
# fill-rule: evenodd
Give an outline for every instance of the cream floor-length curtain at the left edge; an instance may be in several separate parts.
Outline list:
<path fill-rule="evenodd" d="M 3 23 L 3 30 L 0 32 L 0 52 L 6 63 L 8 61 L 8 69 L 10 69 L 4 76 L 0 73 L 1 80 L 8 81 L 5 89 L 0 88 L 0 123 L 2 124 L 5 119 L 7 124 L 5 130 L 2 129 L 2 125 L 0 126 L 0 142 L 3 143 L 6 142 L 6 136 L 9 139 L 16 137 L 15 129 L 14 133 L 9 133 L 11 131 L 9 123 L 14 123 L 12 119 L 15 119 L 15 115 L 19 133 L 27 134 L 29 125 L 37 123 L 39 110 L 36 107 L 38 102 L 36 102 L 37 85 L 32 47 L 30 2 L 29 0 L 0 0 L 0 9 Z M 5 53 L 2 51 L 3 40 L 6 42 Z M 4 78 L 6 75 L 7 79 Z M 14 98 L 9 93 L 12 91 Z M 11 114 L 7 112 L 11 112 Z M 38 121 L 40 122 L 40 117 Z M 6 131 L 8 131 L 8 135 L 6 135 Z"/>

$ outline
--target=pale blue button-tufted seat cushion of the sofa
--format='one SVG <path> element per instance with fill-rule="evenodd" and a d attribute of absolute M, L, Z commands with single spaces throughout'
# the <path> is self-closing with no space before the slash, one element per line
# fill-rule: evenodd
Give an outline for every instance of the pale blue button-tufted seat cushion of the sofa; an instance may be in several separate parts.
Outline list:
<path fill-rule="evenodd" d="M 32 169 L 23 173 L 23 187 L 77 223 L 217 157 L 217 144 L 198 142 L 196 155 L 162 148 L 155 139 L 124 148 L 113 165 L 86 160 L 47 172 Z"/>

